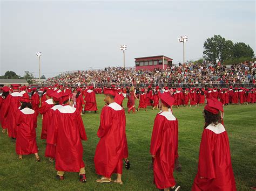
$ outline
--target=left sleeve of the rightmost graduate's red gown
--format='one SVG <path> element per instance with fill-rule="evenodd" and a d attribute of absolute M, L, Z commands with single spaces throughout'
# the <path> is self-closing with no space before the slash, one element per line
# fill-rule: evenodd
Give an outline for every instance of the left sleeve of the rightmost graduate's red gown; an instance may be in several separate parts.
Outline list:
<path fill-rule="evenodd" d="M 205 129 L 200 144 L 198 174 L 199 176 L 208 179 L 215 178 L 213 161 L 214 144 L 214 133 L 210 130 Z"/>

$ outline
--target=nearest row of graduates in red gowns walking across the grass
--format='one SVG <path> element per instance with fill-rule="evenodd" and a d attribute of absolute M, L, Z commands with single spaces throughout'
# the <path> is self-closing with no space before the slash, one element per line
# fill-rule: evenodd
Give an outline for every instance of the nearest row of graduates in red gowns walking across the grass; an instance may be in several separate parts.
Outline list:
<path fill-rule="evenodd" d="M 102 175 L 102 178 L 96 181 L 111 182 L 111 175 L 117 173 L 114 182 L 122 184 L 123 159 L 128 157 L 125 112 L 121 107 L 123 97 L 114 89 L 105 89 L 104 94 L 106 106 L 100 115 L 97 132 L 100 140 L 94 159 L 96 173 Z M 79 172 L 79 180 L 86 182 L 81 140 L 86 140 L 87 137 L 80 112 L 71 106 L 73 95 L 68 90 L 64 93 L 49 91 L 46 97 L 48 100 L 39 109 L 44 115 L 43 120 L 46 118 L 45 155 L 55 158 L 58 179 L 64 179 L 65 171 Z M 58 102 L 60 97 L 62 105 Z M 158 189 L 179 190 L 180 186 L 173 177 L 174 162 L 178 158 L 178 120 L 171 109 L 175 101 L 169 93 L 159 94 L 159 98 L 161 111 L 154 120 L 150 146 L 154 159 L 154 183 Z M 19 101 L 22 102 L 22 107 L 16 110 L 16 152 L 17 148 L 21 148 L 26 151 L 22 154 L 37 154 L 36 112 L 31 109 L 30 98 L 22 96 Z M 215 98 L 208 98 L 207 102 L 204 109 L 206 124 L 200 144 L 198 173 L 192 190 L 235 190 L 228 137 L 223 120 L 219 118 L 223 107 Z M 47 111 L 43 112 L 43 108 L 47 107 L 49 115 L 46 115 Z M 47 155 L 50 153 L 52 155 Z M 19 159 L 22 159 L 22 154 L 17 154 Z M 40 160 L 38 158 L 37 154 L 36 161 Z"/>

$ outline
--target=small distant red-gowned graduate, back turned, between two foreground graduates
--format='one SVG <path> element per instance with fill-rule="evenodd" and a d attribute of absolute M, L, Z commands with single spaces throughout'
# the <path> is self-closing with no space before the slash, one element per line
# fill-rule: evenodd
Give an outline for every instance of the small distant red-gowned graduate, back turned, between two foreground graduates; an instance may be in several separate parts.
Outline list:
<path fill-rule="evenodd" d="M 93 86 L 89 87 L 89 90 L 86 91 L 85 94 L 85 105 L 84 105 L 84 111 L 94 111 L 97 112 L 97 102 L 96 102 L 96 95 L 95 92 L 92 90 Z"/>

